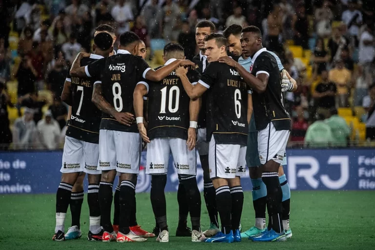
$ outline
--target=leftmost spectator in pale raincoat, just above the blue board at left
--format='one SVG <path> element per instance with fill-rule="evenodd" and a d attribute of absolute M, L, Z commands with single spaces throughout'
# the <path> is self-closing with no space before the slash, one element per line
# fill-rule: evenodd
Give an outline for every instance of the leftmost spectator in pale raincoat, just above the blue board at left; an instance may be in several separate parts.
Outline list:
<path fill-rule="evenodd" d="M 14 149 L 33 148 L 36 139 L 36 126 L 33 120 L 34 111 L 25 108 L 22 117 L 17 118 L 13 125 Z"/>

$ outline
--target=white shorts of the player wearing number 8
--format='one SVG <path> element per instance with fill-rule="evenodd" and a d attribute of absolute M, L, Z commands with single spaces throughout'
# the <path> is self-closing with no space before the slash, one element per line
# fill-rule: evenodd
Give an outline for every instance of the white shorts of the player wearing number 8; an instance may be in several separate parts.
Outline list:
<path fill-rule="evenodd" d="M 138 174 L 142 144 L 139 133 L 101 129 L 99 132 L 99 170 Z"/>

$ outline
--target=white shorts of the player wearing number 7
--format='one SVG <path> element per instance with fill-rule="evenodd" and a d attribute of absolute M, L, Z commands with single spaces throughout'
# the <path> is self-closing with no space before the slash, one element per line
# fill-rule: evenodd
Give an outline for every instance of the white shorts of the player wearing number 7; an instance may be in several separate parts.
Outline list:
<path fill-rule="evenodd" d="M 62 173 L 85 172 L 101 174 L 97 169 L 99 145 L 87 143 L 73 137 L 65 136 L 64 152 L 62 153 Z"/>

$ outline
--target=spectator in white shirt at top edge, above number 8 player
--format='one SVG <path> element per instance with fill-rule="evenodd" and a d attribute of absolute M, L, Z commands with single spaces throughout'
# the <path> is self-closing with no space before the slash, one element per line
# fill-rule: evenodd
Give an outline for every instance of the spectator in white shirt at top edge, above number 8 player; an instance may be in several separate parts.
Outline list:
<path fill-rule="evenodd" d="M 117 34 L 122 34 L 130 30 L 129 22 L 134 20 L 130 2 L 117 0 L 116 5 L 112 8 L 111 15 L 119 25 Z"/>

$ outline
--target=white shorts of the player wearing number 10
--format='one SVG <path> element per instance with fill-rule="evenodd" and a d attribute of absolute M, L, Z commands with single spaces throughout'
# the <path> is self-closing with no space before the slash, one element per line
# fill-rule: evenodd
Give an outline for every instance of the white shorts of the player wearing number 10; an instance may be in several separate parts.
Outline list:
<path fill-rule="evenodd" d="M 177 174 L 196 175 L 197 155 L 181 138 L 155 138 L 147 146 L 146 174 L 166 174 L 172 152 Z"/>

